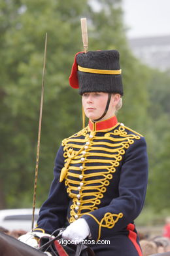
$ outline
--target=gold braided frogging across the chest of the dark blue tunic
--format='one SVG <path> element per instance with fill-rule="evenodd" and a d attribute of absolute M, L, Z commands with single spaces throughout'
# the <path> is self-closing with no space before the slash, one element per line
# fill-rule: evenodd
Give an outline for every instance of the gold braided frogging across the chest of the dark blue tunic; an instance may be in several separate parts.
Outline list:
<path fill-rule="evenodd" d="M 70 223 L 76 220 L 75 215 L 81 217 L 98 209 L 101 198 L 107 191 L 107 186 L 109 186 L 110 180 L 113 179 L 116 167 L 120 165 L 126 149 L 135 142 L 135 139 L 139 140 L 141 138 L 135 132 L 128 134 L 124 126 L 118 125 L 120 123 L 104 130 L 101 137 L 97 136 L 95 132 L 88 131 L 89 127 L 86 127 L 62 142 L 63 157 L 65 158 L 65 186 L 69 198 L 73 200 L 70 207 Z M 93 135 L 93 138 L 91 139 L 89 135 Z M 84 148 L 86 142 L 89 142 L 89 144 L 87 144 L 87 148 Z M 71 148 L 75 154 L 70 158 Z M 94 148 L 95 152 L 93 152 Z M 90 159 L 90 156 L 93 156 L 93 159 Z M 107 165 L 108 161 L 110 165 Z M 90 163 L 90 166 L 86 163 Z M 100 163 L 101 170 L 98 170 L 99 165 L 95 163 Z M 82 166 L 82 169 L 79 166 Z M 82 175 L 81 179 L 80 175 Z M 81 186 L 80 182 L 82 182 Z M 80 186 L 80 190 L 78 186 Z M 80 198 L 77 198 L 75 191 L 78 191 Z M 80 202 L 78 209 L 76 209 L 77 201 Z M 84 210 L 86 210 L 85 213 Z M 109 213 L 109 216 L 106 215 L 103 221 L 108 223 L 107 219 L 110 220 L 112 217 Z M 120 218 L 120 215 L 118 218 Z M 101 222 L 102 225 L 103 221 Z"/>

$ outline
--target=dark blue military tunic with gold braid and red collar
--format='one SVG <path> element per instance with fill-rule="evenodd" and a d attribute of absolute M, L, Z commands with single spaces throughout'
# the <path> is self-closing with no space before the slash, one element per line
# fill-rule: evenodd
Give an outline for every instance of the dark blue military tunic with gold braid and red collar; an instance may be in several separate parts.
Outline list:
<path fill-rule="evenodd" d="M 96 255 L 141 256 L 133 221 L 143 208 L 147 177 L 142 135 L 118 123 L 116 116 L 90 121 L 58 150 L 37 228 L 52 233 L 66 221 L 84 218 L 92 240 L 98 241 L 92 245 Z"/>

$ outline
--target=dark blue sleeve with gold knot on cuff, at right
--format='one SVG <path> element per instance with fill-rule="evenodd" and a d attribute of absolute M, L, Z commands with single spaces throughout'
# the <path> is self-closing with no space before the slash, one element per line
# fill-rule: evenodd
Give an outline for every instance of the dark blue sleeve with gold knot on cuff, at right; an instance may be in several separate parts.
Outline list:
<path fill-rule="evenodd" d="M 86 213 L 92 239 L 113 236 L 133 223 L 143 208 L 148 180 L 148 158 L 143 137 L 129 146 L 120 170 L 119 196 L 109 205 Z"/>

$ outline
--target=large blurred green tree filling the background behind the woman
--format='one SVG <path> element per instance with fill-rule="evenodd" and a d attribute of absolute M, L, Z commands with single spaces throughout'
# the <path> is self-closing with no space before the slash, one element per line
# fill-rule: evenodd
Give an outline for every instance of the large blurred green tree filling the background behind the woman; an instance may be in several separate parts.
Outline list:
<path fill-rule="evenodd" d="M 158 145 L 153 139 L 158 139 L 161 132 L 150 127 L 154 119 L 151 101 L 156 96 L 156 91 L 153 93 L 154 75 L 151 74 L 155 73 L 143 66 L 129 51 L 121 2 L 99 0 L 101 8 L 95 11 L 90 5 L 91 1 L 87 0 L 1 1 L 0 208 L 29 207 L 32 204 L 46 32 L 48 49 L 38 206 L 48 194 L 54 158 L 61 140 L 81 129 L 81 99 L 77 91 L 69 87 L 68 77 L 75 53 L 82 51 L 80 18 L 83 16 L 88 18 L 89 51 L 120 51 L 125 98 L 118 119 L 144 133 L 150 145 Z M 161 79 L 160 73 L 156 81 L 158 79 Z M 167 98 L 165 100 L 167 102 Z M 168 104 L 165 106 L 167 108 Z M 162 112 L 163 108 L 160 108 L 160 114 Z M 148 153 L 153 156 L 151 169 L 154 169 L 152 146 Z"/>

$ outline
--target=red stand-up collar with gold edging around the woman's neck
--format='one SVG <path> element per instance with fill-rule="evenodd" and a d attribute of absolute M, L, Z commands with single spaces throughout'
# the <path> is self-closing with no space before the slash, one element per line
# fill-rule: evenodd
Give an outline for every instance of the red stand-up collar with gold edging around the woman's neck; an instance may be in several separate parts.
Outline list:
<path fill-rule="evenodd" d="M 97 121 L 97 122 L 93 122 L 91 119 L 89 119 L 89 122 L 88 122 L 91 131 L 101 131 L 101 130 L 109 129 L 114 127 L 117 123 L 118 123 L 118 120 L 116 116 L 113 116 L 103 121 Z"/>

